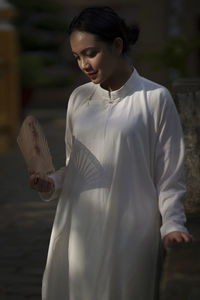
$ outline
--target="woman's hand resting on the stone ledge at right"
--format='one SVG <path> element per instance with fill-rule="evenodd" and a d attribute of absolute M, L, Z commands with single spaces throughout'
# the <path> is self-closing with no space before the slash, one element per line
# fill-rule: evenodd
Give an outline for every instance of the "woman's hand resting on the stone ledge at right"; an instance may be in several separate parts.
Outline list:
<path fill-rule="evenodd" d="M 172 231 L 163 239 L 163 247 L 167 251 L 173 243 L 190 243 L 194 240 L 191 234 L 180 231 Z"/>

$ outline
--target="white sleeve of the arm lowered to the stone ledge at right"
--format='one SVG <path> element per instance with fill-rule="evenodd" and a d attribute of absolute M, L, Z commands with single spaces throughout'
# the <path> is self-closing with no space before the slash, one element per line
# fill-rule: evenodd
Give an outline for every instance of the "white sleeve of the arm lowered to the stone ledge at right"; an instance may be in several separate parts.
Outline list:
<path fill-rule="evenodd" d="M 175 104 L 167 90 L 164 98 L 155 155 L 162 238 L 172 231 L 188 233 L 184 226 L 186 216 L 182 203 L 186 192 L 183 133 Z"/>

